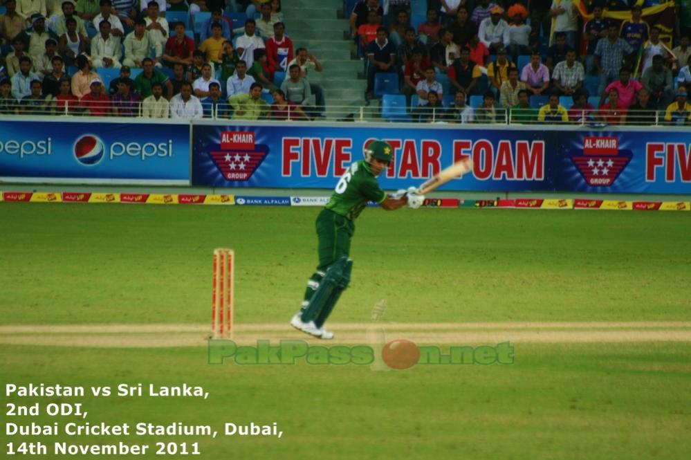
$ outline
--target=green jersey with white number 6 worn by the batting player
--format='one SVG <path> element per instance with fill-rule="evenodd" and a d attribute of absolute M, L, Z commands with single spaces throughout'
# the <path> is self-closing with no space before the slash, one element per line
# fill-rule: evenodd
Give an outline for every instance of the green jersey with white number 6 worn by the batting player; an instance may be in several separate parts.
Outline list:
<path fill-rule="evenodd" d="M 381 203 L 386 193 L 365 160 L 356 161 L 341 176 L 326 209 L 354 221 L 367 206 L 367 201 Z"/>

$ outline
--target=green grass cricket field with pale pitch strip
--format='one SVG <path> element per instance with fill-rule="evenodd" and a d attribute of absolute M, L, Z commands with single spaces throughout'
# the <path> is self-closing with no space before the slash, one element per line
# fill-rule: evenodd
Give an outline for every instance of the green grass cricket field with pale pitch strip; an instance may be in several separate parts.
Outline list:
<path fill-rule="evenodd" d="M 0 384 L 202 385 L 208 400 L 79 402 L 91 423 L 222 430 L 226 421 L 275 421 L 284 432 L 124 439 L 199 442 L 201 455 L 168 458 L 676 460 L 691 452 L 689 213 L 366 210 L 335 333 L 356 337 L 386 300 L 385 320 L 403 323 L 387 338 L 439 337 L 444 348 L 481 337 L 463 323 L 493 334 L 481 344 L 518 338 L 513 365 L 209 365 L 213 248 L 236 251 L 239 326 L 273 339 L 261 327 L 285 324 L 300 338 L 287 321 L 315 265 L 317 212 L 0 203 Z M 140 332 L 107 329 L 117 324 Z M 183 333 L 166 324 L 186 325 L 200 345 L 168 346 Z M 163 329 L 142 332 L 147 325 Z M 39 326 L 46 330 L 32 329 Z M 94 346 L 69 342 L 86 339 Z M 3 406 L 70 401 L 10 397 Z M 3 431 L 0 449 L 22 440 Z"/>

